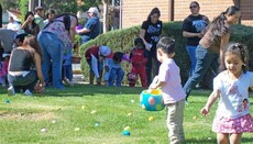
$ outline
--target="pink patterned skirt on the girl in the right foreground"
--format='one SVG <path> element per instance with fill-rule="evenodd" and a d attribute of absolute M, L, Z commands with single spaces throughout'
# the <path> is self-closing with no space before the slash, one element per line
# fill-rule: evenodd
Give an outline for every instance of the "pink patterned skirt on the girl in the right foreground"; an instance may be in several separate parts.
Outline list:
<path fill-rule="evenodd" d="M 217 133 L 253 132 L 253 118 L 245 114 L 237 119 L 217 117 L 212 123 L 212 131 Z"/>

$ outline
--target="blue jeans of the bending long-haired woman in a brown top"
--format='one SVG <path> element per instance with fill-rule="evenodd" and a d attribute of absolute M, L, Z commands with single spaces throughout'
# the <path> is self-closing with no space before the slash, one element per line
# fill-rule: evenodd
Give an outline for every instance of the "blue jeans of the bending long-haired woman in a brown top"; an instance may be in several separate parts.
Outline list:
<path fill-rule="evenodd" d="M 208 48 L 198 45 L 196 48 L 196 58 L 197 64 L 196 68 L 193 73 L 193 76 L 186 81 L 184 86 L 184 90 L 187 95 L 187 98 L 191 91 L 191 89 L 202 80 L 205 74 L 211 67 L 212 70 L 218 71 L 219 63 L 219 54 L 210 52 Z"/>

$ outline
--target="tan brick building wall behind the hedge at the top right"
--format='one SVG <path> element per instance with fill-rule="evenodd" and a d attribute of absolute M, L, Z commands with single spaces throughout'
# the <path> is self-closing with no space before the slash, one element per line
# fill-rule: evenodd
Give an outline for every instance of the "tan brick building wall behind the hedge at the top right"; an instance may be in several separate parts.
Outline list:
<path fill-rule="evenodd" d="M 161 20 L 183 21 L 190 14 L 189 3 L 194 0 L 122 0 L 122 27 L 140 25 L 146 20 L 150 11 L 157 7 L 161 10 Z M 238 5 L 242 12 L 241 24 L 253 25 L 253 0 L 197 0 L 200 13 L 211 21 L 229 5 Z"/>

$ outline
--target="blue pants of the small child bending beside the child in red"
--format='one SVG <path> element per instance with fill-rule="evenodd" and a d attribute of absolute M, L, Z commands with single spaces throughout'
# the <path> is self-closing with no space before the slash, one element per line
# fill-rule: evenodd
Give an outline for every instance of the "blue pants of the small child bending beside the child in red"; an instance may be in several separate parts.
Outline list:
<path fill-rule="evenodd" d="M 108 80 L 108 86 L 113 86 L 116 81 L 116 86 L 120 87 L 123 77 L 124 77 L 124 71 L 122 68 L 111 68 L 109 80 Z"/>

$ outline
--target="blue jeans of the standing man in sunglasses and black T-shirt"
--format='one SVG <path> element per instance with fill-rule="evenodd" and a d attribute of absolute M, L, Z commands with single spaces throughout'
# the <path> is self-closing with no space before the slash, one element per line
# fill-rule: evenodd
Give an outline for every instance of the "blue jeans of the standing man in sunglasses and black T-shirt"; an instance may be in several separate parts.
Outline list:
<path fill-rule="evenodd" d="M 197 46 L 189 46 L 189 45 L 186 46 L 186 51 L 187 51 L 187 53 L 189 55 L 189 58 L 190 58 L 189 76 L 193 76 L 194 69 L 195 69 L 196 63 L 197 63 L 197 59 L 196 59 L 196 47 Z"/>

